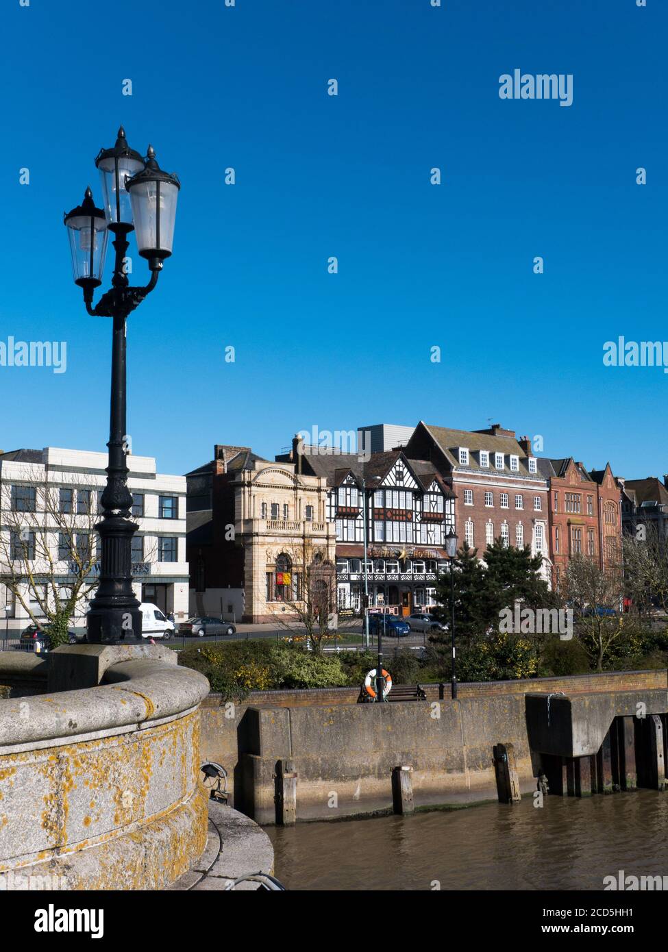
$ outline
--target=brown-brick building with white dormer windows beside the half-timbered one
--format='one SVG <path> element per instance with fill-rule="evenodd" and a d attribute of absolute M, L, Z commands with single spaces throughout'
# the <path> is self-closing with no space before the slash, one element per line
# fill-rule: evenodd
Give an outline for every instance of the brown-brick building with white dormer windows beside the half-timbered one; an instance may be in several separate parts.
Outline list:
<path fill-rule="evenodd" d="M 455 493 L 460 545 L 485 549 L 500 538 L 505 545 L 529 545 L 541 555 L 541 576 L 550 583 L 548 486 L 528 437 L 495 424 L 462 430 L 420 421 L 404 452 L 428 462 Z"/>

